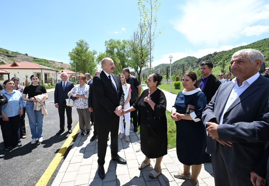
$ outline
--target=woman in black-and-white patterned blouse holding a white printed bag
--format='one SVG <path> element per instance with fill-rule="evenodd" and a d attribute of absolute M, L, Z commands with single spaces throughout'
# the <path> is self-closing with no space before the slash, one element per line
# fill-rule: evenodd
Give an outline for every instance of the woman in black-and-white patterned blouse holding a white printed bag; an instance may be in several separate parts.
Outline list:
<path fill-rule="evenodd" d="M 90 86 L 87 85 L 87 79 L 85 75 L 80 75 L 78 77 L 78 81 L 80 84 L 76 85 L 70 92 L 68 92 L 68 96 L 76 97 L 77 99 L 74 101 L 74 107 L 77 109 L 79 123 L 80 123 L 80 131 L 81 136 L 85 136 L 85 126 L 86 126 L 86 134 L 90 135 L 90 114 L 88 110 L 88 97 Z M 69 99 L 72 105 L 72 99 Z M 68 102 L 67 102 L 68 103 Z M 73 107 L 73 106 L 71 106 Z"/>

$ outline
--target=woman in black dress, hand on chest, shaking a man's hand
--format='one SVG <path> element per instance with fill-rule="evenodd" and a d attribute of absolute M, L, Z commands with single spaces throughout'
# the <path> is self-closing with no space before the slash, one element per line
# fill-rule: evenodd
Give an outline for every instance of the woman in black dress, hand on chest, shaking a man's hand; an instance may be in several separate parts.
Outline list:
<path fill-rule="evenodd" d="M 148 76 L 149 89 L 144 90 L 136 102 L 124 114 L 138 110 L 138 125 L 140 125 L 141 151 L 145 160 L 139 165 L 143 169 L 150 164 L 150 158 L 156 158 L 155 167 L 149 177 L 156 178 L 161 174 L 161 161 L 167 154 L 167 119 L 166 98 L 158 89 L 162 80 L 159 74 Z"/>

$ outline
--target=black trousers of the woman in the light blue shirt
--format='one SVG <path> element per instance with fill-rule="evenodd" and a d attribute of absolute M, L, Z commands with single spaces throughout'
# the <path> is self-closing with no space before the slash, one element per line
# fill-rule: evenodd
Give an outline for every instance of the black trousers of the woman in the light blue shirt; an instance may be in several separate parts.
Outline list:
<path fill-rule="evenodd" d="M 5 148 L 12 147 L 13 145 L 17 145 L 21 142 L 20 123 L 20 115 L 8 117 L 8 121 L 3 121 L 3 118 L 0 118 L 0 125 Z"/>

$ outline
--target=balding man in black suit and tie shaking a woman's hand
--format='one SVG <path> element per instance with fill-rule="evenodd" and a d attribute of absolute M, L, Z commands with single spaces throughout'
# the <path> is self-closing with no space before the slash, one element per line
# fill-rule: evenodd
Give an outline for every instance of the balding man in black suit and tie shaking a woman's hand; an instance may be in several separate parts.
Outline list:
<path fill-rule="evenodd" d="M 97 99 L 95 125 L 98 133 L 98 175 L 105 177 L 107 138 L 110 132 L 111 159 L 127 164 L 118 155 L 119 115 L 124 109 L 124 92 L 119 76 L 112 74 L 115 65 L 111 58 L 103 58 L 103 71 L 93 77 L 93 92 Z"/>

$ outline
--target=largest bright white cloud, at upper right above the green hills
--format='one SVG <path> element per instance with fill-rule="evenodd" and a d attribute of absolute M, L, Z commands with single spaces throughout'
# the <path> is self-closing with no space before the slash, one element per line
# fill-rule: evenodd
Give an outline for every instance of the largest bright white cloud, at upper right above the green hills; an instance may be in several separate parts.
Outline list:
<path fill-rule="evenodd" d="M 238 37 L 240 32 L 261 19 L 269 18 L 265 0 L 189 0 L 179 9 L 182 17 L 171 22 L 195 44 L 217 46 Z"/>

